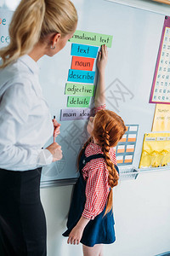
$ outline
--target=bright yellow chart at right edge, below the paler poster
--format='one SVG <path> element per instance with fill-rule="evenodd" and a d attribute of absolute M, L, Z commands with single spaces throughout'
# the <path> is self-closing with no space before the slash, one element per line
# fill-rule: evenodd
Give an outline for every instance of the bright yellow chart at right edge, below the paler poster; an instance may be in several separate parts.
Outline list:
<path fill-rule="evenodd" d="M 170 166 L 170 132 L 144 134 L 139 168 Z"/>

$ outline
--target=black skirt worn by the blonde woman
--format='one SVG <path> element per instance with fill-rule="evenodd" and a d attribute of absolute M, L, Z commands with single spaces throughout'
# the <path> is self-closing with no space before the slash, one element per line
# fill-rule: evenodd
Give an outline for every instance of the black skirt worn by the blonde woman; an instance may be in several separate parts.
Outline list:
<path fill-rule="evenodd" d="M 0 255 L 45 256 L 46 219 L 40 201 L 42 168 L 0 169 Z"/>

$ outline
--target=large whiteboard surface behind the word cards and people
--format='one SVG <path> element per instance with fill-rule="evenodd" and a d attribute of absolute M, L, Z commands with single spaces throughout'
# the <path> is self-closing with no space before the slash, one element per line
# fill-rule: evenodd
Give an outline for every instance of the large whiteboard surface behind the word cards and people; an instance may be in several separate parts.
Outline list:
<path fill-rule="evenodd" d="M 121 115 L 126 125 L 139 125 L 132 165 L 138 168 L 144 133 L 151 131 L 156 107 L 149 98 L 165 17 L 104 0 L 72 2 L 79 16 L 78 30 L 113 36 L 105 75 L 106 107 Z M 53 58 L 42 57 L 38 65 L 43 95 L 52 116 L 59 121 L 60 110 L 67 108 L 65 83 L 71 68 L 71 43 Z M 118 88 L 124 94 L 116 92 Z M 116 100 L 111 98 L 111 92 Z M 62 146 L 63 159 L 43 168 L 42 185 L 68 183 L 77 178 L 77 154 L 88 137 L 87 120 L 59 123 L 61 133 L 56 142 Z M 47 145 L 52 142 L 53 138 Z"/>

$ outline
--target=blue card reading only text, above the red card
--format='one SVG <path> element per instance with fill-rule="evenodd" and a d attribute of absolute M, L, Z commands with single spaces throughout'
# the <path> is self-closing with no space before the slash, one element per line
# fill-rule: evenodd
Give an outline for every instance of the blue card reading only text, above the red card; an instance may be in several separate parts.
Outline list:
<path fill-rule="evenodd" d="M 99 47 L 86 44 L 72 44 L 71 55 L 95 59 L 98 54 L 98 49 Z"/>

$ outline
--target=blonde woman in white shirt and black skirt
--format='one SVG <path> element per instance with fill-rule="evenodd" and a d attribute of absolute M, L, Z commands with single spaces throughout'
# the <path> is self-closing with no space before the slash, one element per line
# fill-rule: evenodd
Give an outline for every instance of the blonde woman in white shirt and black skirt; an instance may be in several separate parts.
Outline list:
<path fill-rule="evenodd" d="M 42 256 L 46 221 L 39 188 L 42 166 L 62 158 L 59 134 L 38 82 L 37 61 L 63 49 L 77 27 L 70 0 L 22 0 L 0 50 L 0 255 Z M 48 74 L 47 74 L 48 75 Z"/>

